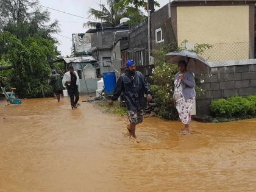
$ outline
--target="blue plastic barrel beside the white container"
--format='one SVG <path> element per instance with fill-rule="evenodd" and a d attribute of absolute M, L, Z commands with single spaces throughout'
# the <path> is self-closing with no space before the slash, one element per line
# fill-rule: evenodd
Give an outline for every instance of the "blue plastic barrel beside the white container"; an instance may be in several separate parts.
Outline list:
<path fill-rule="evenodd" d="M 104 91 L 107 95 L 113 95 L 116 87 L 115 72 L 103 73 Z"/>

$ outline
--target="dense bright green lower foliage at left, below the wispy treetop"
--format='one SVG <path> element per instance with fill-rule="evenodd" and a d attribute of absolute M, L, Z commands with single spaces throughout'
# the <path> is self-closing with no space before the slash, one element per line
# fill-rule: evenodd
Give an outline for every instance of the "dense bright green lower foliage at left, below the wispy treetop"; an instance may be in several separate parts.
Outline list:
<path fill-rule="evenodd" d="M 55 59 L 55 46 L 45 38 L 19 40 L 10 32 L 0 34 L 1 60 L 16 66 L 10 71 L 7 87 L 16 87 L 21 98 L 51 96 L 49 60 Z"/>

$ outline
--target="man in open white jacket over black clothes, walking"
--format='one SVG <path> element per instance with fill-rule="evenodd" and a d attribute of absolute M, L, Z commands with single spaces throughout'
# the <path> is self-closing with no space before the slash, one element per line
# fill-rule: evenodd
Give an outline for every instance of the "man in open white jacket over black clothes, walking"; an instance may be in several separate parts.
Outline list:
<path fill-rule="evenodd" d="M 65 73 L 62 84 L 64 87 L 68 89 L 68 94 L 70 97 L 70 104 L 71 108 L 77 108 L 77 102 L 79 101 L 79 91 L 80 91 L 80 82 L 79 82 L 79 76 L 74 71 L 73 66 L 69 66 L 69 71 Z M 74 100 L 74 97 L 76 99 Z"/>

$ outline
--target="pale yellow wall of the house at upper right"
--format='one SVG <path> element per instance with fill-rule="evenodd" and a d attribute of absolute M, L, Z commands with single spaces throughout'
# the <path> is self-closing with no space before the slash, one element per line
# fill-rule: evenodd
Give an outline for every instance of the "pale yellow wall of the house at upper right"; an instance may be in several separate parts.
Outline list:
<path fill-rule="evenodd" d="M 180 44 L 185 39 L 191 43 L 234 43 L 233 48 L 222 44 L 218 52 L 211 52 L 215 60 L 249 59 L 249 5 L 177 7 L 177 41 Z"/>

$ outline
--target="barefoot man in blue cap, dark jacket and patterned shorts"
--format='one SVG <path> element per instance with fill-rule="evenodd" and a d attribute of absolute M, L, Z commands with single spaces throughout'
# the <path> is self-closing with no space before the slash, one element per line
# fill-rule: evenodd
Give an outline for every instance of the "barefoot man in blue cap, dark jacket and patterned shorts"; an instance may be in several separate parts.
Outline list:
<path fill-rule="evenodd" d="M 128 60 L 126 66 L 124 74 L 119 77 L 116 83 L 115 92 L 109 104 L 113 105 L 113 101 L 116 101 L 121 93 L 124 94 L 130 121 L 127 129 L 130 137 L 136 139 L 136 125 L 143 122 L 143 99 L 146 100 L 144 94 L 146 94 L 148 102 L 152 101 L 152 96 L 149 84 L 143 74 L 136 71 L 135 62 Z"/>

